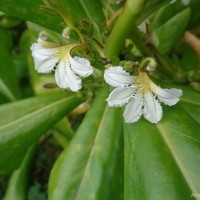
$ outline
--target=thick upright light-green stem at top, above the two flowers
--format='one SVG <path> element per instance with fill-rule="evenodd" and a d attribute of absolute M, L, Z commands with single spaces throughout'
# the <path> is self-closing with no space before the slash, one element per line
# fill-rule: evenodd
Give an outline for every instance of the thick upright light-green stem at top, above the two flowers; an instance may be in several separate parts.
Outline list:
<path fill-rule="evenodd" d="M 119 16 L 105 49 L 108 58 L 117 55 L 124 45 L 125 39 L 135 26 L 136 19 L 143 9 L 145 0 L 127 0 L 125 7 Z"/>

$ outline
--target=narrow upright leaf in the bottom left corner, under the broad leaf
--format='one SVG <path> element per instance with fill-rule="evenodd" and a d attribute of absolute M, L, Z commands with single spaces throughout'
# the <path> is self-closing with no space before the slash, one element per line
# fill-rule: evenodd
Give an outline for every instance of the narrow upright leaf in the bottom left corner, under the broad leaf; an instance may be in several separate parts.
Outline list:
<path fill-rule="evenodd" d="M 32 157 L 35 152 L 35 145 L 32 145 L 26 153 L 22 164 L 16 169 L 9 180 L 6 194 L 3 200 L 26 200 L 27 188 L 29 182 L 29 172 L 32 163 Z"/>

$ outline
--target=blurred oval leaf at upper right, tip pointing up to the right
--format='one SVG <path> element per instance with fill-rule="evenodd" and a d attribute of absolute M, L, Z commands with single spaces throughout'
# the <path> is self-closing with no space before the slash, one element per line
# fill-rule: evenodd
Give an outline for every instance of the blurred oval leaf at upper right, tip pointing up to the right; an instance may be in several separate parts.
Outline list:
<path fill-rule="evenodd" d="M 165 24 L 153 30 L 152 42 L 161 53 L 169 53 L 180 40 L 187 27 L 189 17 L 190 8 L 186 8 L 170 18 Z"/>

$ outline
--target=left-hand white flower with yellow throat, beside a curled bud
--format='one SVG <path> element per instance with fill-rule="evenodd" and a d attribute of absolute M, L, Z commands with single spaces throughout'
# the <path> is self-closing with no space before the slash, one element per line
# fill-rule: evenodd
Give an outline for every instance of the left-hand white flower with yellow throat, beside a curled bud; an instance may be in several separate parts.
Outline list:
<path fill-rule="evenodd" d="M 38 39 L 31 46 L 35 69 L 39 73 L 50 73 L 55 68 L 55 80 L 60 88 L 70 88 L 76 92 L 81 88 L 79 76 L 92 74 L 90 62 L 81 57 L 72 57 L 71 50 L 80 44 L 58 46 L 54 43 Z"/>

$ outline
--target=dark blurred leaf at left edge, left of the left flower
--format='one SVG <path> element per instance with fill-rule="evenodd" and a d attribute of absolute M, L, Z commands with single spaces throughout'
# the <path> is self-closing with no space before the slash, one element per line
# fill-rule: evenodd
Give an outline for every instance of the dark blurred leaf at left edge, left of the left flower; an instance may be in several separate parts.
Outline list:
<path fill-rule="evenodd" d="M 20 98 L 17 75 L 10 54 L 9 36 L 9 32 L 0 28 L 0 96 L 4 97 L 2 102 Z"/>

